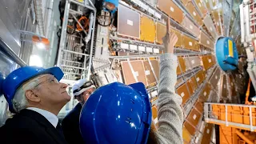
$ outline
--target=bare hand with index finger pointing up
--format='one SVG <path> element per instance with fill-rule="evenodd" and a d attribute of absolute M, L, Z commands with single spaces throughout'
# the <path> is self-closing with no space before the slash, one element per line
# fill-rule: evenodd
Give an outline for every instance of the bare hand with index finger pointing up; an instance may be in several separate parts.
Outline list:
<path fill-rule="evenodd" d="M 170 18 L 167 18 L 166 25 L 166 36 L 162 38 L 164 48 L 164 53 L 174 54 L 174 46 L 178 41 L 178 37 L 176 34 L 170 32 Z"/>

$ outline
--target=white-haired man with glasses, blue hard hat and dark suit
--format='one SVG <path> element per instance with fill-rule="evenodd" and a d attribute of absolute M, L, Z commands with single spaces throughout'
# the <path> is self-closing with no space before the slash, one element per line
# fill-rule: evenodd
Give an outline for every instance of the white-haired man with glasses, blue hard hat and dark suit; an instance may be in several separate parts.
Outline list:
<path fill-rule="evenodd" d="M 14 70 L 1 90 L 14 117 L 0 128 L 1 143 L 67 143 L 57 115 L 70 101 L 58 67 L 25 66 Z"/>

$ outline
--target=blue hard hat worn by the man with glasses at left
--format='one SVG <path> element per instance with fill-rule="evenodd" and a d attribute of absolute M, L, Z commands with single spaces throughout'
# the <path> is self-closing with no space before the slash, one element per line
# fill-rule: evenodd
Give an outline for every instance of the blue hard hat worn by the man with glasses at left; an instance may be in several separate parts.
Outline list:
<path fill-rule="evenodd" d="M 26 82 L 30 78 L 34 78 L 40 74 L 52 74 L 59 80 L 63 77 L 63 72 L 59 67 L 52 67 L 50 69 L 44 69 L 38 66 L 25 66 L 11 72 L 1 85 L 2 94 L 4 94 L 6 101 L 9 104 L 9 110 L 12 113 L 16 113 L 12 104 L 12 99 L 19 86 L 23 82 Z"/>

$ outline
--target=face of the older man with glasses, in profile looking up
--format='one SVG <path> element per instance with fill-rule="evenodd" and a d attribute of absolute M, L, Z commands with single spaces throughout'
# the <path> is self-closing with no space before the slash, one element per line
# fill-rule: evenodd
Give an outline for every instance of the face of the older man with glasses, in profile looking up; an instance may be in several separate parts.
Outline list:
<path fill-rule="evenodd" d="M 66 92 L 67 85 L 58 82 L 51 74 L 39 78 L 36 95 L 40 98 L 42 105 L 65 106 L 70 101 L 70 95 Z"/>

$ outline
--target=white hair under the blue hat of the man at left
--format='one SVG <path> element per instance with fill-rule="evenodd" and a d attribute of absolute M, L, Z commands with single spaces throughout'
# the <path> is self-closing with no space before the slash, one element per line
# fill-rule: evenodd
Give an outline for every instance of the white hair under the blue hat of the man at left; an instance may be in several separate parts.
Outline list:
<path fill-rule="evenodd" d="M 38 77 L 32 78 L 24 83 L 22 86 L 19 86 L 14 94 L 14 98 L 12 100 L 14 110 L 19 113 L 21 110 L 26 109 L 28 105 L 28 101 L 26 99 L 26 90 L 33 90 L 39 84 L 39 78 L 42 78 L 46 74 L 39 75 Z"/>

